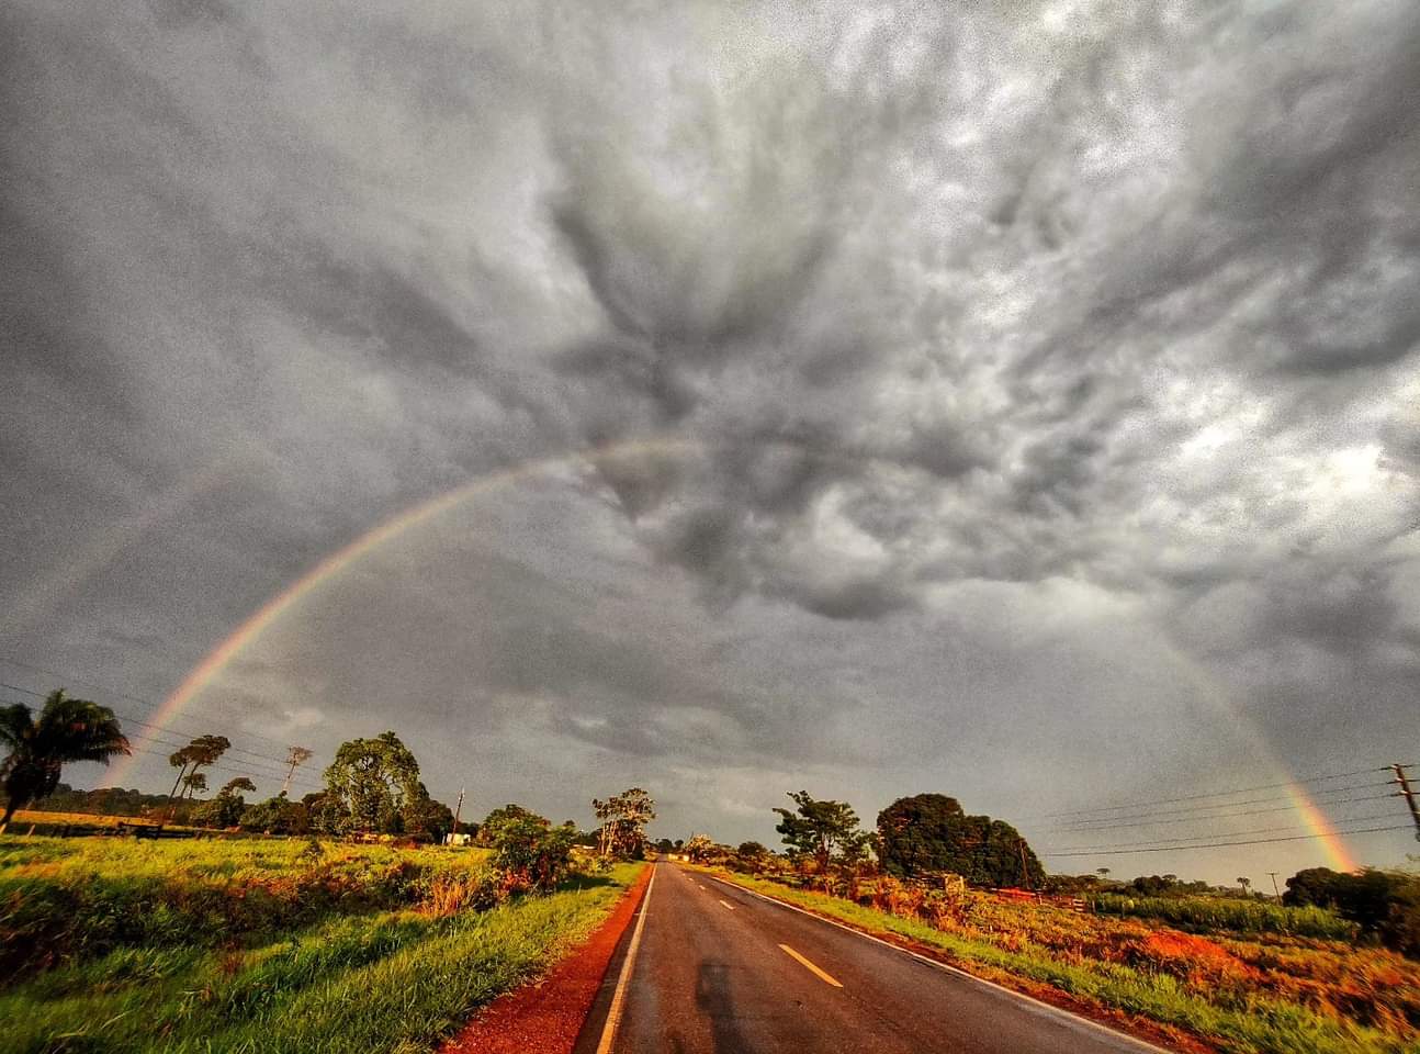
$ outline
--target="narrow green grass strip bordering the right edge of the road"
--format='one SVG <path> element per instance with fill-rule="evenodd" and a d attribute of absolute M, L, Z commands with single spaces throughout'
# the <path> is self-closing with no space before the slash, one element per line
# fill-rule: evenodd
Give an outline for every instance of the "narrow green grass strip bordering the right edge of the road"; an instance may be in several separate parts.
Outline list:
<path fill-rule="evenodd" d="M 1298 1003 L 1241 993 L 1230 987 L 1206 993 L 1169 973 L 1146 972 L 1081 955 L 1065 957 L 1021 940 L 995 942 L 943 932 L 920 919 L 899 918 L 824 893 L 792 889 L 746 875 L 724 876 L 866 932 L 896 935 L 939 949 L 949 962 L 980 976 L 1005 983 L 1021 977 L 1039 982 L 1088 1003 L 1204 1037 L 1227 1051 L 1238 1054 L 1420 1051 L 1413 1038 L 1358 1026 Z"/>

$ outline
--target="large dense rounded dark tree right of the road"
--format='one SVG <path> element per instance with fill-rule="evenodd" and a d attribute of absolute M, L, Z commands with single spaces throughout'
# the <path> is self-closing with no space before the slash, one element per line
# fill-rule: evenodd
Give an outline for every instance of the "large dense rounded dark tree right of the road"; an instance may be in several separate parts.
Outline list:
<path fill-rule="evenodd" d="M 1014 827 L 968 815 L 946 794 L 897 798 L 879 813 L 878 855 L 893 875 L 947 871 L 973 885 L 995 888 L 1038 886 L 1045 878 L 1039 859 Z"/>

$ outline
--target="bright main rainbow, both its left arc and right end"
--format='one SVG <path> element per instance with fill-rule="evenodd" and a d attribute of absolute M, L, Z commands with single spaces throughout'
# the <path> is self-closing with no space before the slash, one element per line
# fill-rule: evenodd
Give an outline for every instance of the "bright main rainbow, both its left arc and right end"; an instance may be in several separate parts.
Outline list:
<path fill-rule="evenodd" d="M 488 491 L 508 486 L 510 483 L 517 483 L 518 480 L 524 480 L 575 462 L 596 462 L 646 455 L 683 456 L 703 449 L 704 446 L 701 443 L 684 438 L 660 436 L 625 443 L 612 443 L 586 450 L 574 450 L 551 457 L 521 462 L 511 467 L 479 476 L 460 487 L 454 487 L 453 490 L 444 491 L 429 501 L 408 509 L 366 534 L 355 538 L 344 548 L 329 554 L 291 585 L 263 604 L 224 641 L 222 641 L 222 643 L 213 648 L 212 652 L 209 652 L 206 658 L 197 663 L 197 666 L 193 668 L 193 670 L 183 679 L 173 693 L 163 700 L 162 706 L 153 712 L 153 716 L 149 719 L 149 724 L 155 730 L 168 727 L 168 724 L 176 719 L 243 649 L 261 636 L 263 632 L 280 621 L 302 599 L 320 590 L 322 584 L 339 577 L 351 565 L 359 563 L 362 558 L 386 543 L 395 541 L 408 531 L 437 518 L 443 513 L 447 513 L 452 509 L 479 497 L 480 494 L 487 494 Z M 1234 727 L 1241 727 L 1242 732 L 1248 734 L 1248 739 L 1257 749 L 1261 759 L 1272 771 L 1277 773 L 1279 780 L 1287 781 L 1288 797 L 1296 808 L 1302 822 L 1319 841 L 1329 865 L 1336 871 L 1356 871 L 1358 864 L 1350 855 L 1350 851 L 1346 848 L 1346 842 L 1340 834 L 1332 825 L 1326 814 L 1316 805 L 1315 801 L 1312 801 L 1306 790 L 1296 783 L 1291 773 L 1277 760 L 1261 730 L 1251 722 L 1250 717 L 1247 717 L 1242 707 L 1231 700 L 1228 688 L 1221 685 L 1207 669 L 1200 666 L 1194 659 L 1184 655 L 1173 645 L 1166 645 L 1166 658 L 1180 673 L 1183 673 L 1187 680 L 1194 683 L 1198 693 L 1204 699 L 1210 700 L 1223 712 L 1223 716 L 1231 722 Z M 122 786 L 133 764 L 133 756 L 121 759 L 108 773 L 108 786 Z"/>

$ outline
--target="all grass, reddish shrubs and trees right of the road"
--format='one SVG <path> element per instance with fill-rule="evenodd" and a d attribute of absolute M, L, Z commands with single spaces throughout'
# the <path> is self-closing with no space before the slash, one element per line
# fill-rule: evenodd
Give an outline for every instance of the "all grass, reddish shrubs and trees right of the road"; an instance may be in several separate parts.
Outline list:
<path fill-rule="evenodd" d="M 1414 875 L 1304 871 L 1282 902 L 1172 875 L 1052 881 L 1012 828 L 944 795 L 893 803 L 873 832 L 845 803 L 791 797 L 795 811 L 775 810 L 782 855 L 707 838 L 686 855 L 990 980 L 1220 1050 L 1420 1050 Z M 1014 879 L 1062 893 L 1003 888 Z"/>

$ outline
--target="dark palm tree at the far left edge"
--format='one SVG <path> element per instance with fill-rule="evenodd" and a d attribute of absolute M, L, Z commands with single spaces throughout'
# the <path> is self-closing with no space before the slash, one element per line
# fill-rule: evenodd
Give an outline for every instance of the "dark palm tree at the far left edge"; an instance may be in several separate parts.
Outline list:
<path fill-rule="evenodd" d="M 0 764 L 6 795 L 0 832 L 20 805 L 54 793 L 67 763 L 108 764 L 115 754 L 132 753 L 112 710 L 87 699 L 70 699 L 62 688 L 45 697 L 38 720 L 24 703 L 0 710 L 0 743 L 10 751 Z"/>

